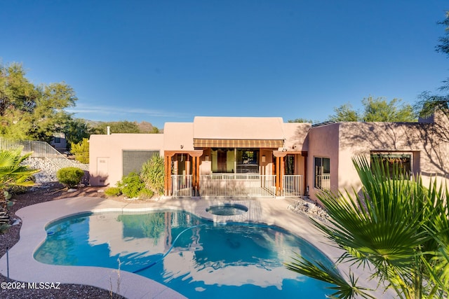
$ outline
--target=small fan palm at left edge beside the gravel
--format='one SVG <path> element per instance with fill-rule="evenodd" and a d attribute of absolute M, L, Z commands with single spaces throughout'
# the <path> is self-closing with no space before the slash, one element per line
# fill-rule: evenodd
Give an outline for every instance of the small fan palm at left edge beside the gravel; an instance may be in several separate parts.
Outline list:
<path fill-rule="evenodd" d="M 22 162 L 26 160 L 31 153 L 21 155 L 21 149 L 14 151 L 0 150 L 0 225 L 7 225 L 9 222 L 8 214 L 8 189 L 12 186 L 32 186 L 31 177 L 39 169 L 30 169 Z"/>

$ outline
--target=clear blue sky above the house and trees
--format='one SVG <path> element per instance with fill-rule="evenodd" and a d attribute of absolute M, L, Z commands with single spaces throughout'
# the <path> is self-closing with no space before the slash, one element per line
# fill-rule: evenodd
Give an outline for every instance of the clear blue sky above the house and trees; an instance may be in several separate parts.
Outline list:
<path fill-rule="evenodd" d="M 90 120 L 323 121 L 449 77 L 447 0 L 1 1 L 0 61 L 71 85 Z"/>

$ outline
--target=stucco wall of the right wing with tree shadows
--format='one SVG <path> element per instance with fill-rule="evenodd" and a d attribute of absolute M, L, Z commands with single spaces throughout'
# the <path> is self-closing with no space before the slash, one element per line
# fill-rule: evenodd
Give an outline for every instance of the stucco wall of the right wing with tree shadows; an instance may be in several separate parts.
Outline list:
<path fill-rule="evenodd" d="M 449 144 L 430 123 L 334 123 L 313 127 L 309 133 L 308 184 L 316 199 L 314 157 L 330 158 L 331 190 L 360 190 L 352 158 L 371 151 L 402 152 L 413 156 L 413 173 L 421 174 L 424 186 L 431 176 L 448 176 Z"/>

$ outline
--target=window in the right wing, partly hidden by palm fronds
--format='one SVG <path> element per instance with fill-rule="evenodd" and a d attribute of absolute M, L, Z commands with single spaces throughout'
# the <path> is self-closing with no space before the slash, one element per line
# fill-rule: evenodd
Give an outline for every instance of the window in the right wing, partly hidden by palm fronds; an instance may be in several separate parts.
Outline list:
<path fill-rule="evenodd" d="M 371 152 L 370 164 L 373 165 L 375 160 L 379 160 L 384 165 L 385 170 L 388 169 L 387 176 L 389 178 L 394 176 L 395 169 L 405 177 L 410 177 L 412 173 L 412 155 L 410 153 Z"/>

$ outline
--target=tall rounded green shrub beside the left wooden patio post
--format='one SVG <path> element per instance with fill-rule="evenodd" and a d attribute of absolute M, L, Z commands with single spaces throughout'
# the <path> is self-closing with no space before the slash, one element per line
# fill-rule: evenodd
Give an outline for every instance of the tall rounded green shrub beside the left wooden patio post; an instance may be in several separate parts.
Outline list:
<path fill-rule="evenodd" d="M 160 155 L 153 155 L 145 162 L 140 172 L 140 178 L 145 182 L 145 186 L 158 195 L 163 194 L 164 169 L 163 158 Z"/>

